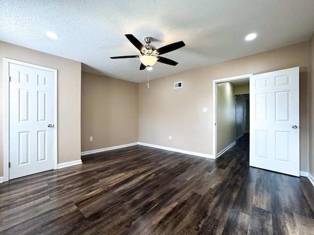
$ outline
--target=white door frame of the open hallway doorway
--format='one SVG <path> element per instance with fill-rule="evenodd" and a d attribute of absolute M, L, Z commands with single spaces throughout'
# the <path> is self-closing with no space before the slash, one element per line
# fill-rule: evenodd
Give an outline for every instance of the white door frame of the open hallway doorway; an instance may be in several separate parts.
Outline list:
<path fill-rule="evenodd" d="M 250 78 L 253 73 L 238 75 L 234 77 L 226 77 L 221 79 L 216 79 L 212 81 L 212 157 L 217 158 L 217 84 L 224 82 L 231 82 L 235 80 L 240 80 L 244 78 Z"/>

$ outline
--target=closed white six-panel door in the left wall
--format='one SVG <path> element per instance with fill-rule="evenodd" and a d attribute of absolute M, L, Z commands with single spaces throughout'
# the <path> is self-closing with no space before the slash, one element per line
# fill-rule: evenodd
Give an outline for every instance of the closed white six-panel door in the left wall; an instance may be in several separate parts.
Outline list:
<path fill-rule="evenodd" d="M 14 179 L 53 169 L 53 72 L 10 63 L 9 75 L 9 179 Z"/>

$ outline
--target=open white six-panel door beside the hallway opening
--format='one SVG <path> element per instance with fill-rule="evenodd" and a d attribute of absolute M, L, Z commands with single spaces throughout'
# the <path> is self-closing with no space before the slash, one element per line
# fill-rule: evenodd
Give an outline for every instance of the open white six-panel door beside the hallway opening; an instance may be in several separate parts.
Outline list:
<path fill-rule="evenodd" d="M 250 166 L 300 176 L 299 67 L 250 76 Z"/>

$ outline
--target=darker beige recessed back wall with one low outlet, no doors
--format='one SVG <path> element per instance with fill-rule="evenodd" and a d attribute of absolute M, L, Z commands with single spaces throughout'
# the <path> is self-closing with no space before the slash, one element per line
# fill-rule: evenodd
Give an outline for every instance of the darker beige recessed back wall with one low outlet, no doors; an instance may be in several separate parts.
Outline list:
<path fill-rule="evenodd" d="M 138 84 L 88 72 L 81 78 L 81 151 L 138 142 Z"/>

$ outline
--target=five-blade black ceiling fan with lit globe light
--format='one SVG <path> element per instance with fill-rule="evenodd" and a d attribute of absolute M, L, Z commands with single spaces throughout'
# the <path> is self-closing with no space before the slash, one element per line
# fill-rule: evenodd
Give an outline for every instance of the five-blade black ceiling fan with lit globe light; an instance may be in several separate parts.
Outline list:
<path fill-rule="evenodd" d="M 151 37 L 145 38 L 145 42 L 147 43 L 147 45 L 144 46 L 132 34 L 126 34 L 125 36 L 129 39 L 131 44 L 133 44 L 137 49 L 139 49 L 141 55 L 114 56 L 110 58 L 111 59 L 139 58 L 141 61 L 139 70 L 145 70 L 146 67 L 150 67 L 154 65 L 156 61 L 163 64 L 176 66 L 178 62 L 167 59 L 165 57 L 161 57 L 159 55 L 168 53 L 170 51 L 173 51 L 173 50 L 176 50 L 185 46 L 183 41 L 180 41 L 180 42 L 169 44 L 167 46 L 160 47 L 157 49 L 156 47 L 150 45 L 150 43 L 153 41 Z"/>

